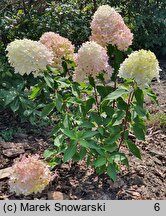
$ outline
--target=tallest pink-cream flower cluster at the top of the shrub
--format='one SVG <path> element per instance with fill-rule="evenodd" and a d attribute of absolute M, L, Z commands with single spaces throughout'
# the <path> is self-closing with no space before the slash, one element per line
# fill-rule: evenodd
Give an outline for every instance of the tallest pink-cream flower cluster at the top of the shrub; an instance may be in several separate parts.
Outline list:
<path fill-rule="evenodd" d="M 102 5 L 95 12 L 91 22 L 90 40 L 102 46 L 112 44 L 125 51 L 132 44 L 133 34 L 125 25 L 121 15 L 109 5 Z"/>

